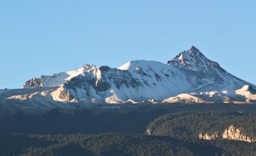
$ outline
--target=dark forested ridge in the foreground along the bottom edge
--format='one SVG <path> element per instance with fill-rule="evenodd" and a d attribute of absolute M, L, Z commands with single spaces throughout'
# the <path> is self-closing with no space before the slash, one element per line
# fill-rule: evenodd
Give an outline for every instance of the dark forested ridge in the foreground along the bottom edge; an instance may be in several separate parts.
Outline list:
<path fill-rule="evenodd" d="M 5 140 L 0 143 L 2 156 L 230 155 L 212 145 L 142 134 L 13 134 L 2 139 Z"/>

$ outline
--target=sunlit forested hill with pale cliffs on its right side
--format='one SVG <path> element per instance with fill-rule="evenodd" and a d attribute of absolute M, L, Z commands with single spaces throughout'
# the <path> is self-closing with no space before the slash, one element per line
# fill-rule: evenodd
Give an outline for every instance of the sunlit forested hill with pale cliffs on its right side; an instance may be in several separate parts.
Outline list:
<path fill-rule="evenodd" d="M 179 139 L 232 139 L 256 141 L 256 113 L 177 112 L 156 118 L 147 127 L 148 135 Z"/>

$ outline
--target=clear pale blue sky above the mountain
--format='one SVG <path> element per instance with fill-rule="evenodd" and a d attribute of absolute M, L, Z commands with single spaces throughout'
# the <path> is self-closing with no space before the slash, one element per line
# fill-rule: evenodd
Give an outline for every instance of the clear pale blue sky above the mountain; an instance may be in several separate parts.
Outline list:
<path fill-rule="evenodd" d="M 0 88 L 130 60 L 167 63 L 197 47 L 256 84 L 256 1 L 0 0 Z"/>

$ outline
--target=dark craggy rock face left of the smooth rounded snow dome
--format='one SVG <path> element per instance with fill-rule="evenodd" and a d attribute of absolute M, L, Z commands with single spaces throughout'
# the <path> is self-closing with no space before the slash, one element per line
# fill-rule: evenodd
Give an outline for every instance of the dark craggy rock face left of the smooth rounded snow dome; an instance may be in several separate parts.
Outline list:
<path fill-rule="evenodd" d="M 139 87 L 141 82 L 137 81 L 133 76 L 126 70 L 112 69 L 108 66 L 94 67 L 83 74 L 75 76 L 64 83 L 64 90 L 60 94 L 60 99 L 66 101 L 72 100 L 74 95 L 71 90 L 77 92 L 77 89 L 83 89 L 86 91 L 86 96 L 89 97 L 93 93 L 92 88 L 96 93 L 104 92 L 110 89 L 111 83 L 116 88 L 120 89 L 122 85 L 127 88 Z M 91 88 L 92 87 L 92 88 Z M 69 92 L 67 92 L 70 90 Z"/>

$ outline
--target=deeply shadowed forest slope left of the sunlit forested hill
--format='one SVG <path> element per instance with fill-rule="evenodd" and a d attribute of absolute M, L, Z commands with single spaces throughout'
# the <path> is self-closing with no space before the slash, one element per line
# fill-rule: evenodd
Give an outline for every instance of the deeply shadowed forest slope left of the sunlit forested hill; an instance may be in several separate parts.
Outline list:
<path fill-rule="evenodd" d="M 144 133 L 150 121 L 166 114 L 167 110 L 135 110 L 131 112 L 105 112 L 95 115 L 92 111 L 81 111 L 66 114 L 52 110 L 43 116 L 17 113 L 0 118 L 1 134 L 12 133 Z"/>

